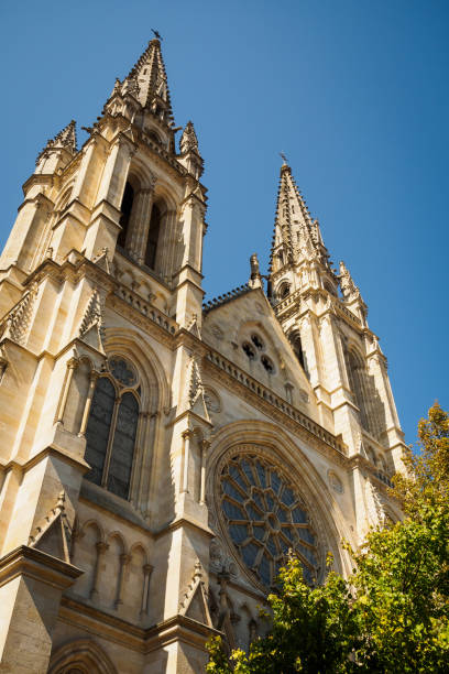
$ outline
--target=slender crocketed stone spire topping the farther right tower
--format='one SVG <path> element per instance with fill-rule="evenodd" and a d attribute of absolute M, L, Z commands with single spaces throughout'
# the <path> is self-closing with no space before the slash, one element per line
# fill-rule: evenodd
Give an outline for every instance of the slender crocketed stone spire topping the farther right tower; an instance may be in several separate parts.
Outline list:
<path fill-rule="evenodd" d="M 281 166 L 270 271 L 316 258 L 329 267 L 318 220 L 313 220 L 285 157 Z"/>

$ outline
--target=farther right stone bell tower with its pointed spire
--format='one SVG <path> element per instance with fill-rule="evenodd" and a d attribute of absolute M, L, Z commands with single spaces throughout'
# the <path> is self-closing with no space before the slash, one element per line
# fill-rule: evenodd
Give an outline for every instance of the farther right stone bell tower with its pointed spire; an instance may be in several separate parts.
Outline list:
<path fill-rule="evenodd" d="M 274 312 L 317 395 L 321 424 L 342 436 L 354 463 L 381 476 L 402 470 L 404 436 L 379 339 L 346 264 L 332 267 L 318 220 L 310 216 L 284 161 L 271 251 Z"/>

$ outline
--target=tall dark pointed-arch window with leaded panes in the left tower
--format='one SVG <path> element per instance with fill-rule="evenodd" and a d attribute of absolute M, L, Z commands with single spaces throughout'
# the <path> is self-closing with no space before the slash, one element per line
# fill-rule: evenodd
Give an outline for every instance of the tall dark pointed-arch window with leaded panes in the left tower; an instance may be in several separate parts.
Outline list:
<path fill-rule="evenodd" d="M 128 499 L 139 424 L 138 377 L 122 358 L 97 380 L 86 428 L 86 478 Z M 130 390 L 130 384 L 134 388 Z"/>

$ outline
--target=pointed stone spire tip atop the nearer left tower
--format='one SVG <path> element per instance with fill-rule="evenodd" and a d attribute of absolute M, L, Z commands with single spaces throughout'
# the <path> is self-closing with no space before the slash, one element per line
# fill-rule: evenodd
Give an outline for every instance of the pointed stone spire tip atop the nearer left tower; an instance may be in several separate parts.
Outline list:
<path fill-rule="evenodd" d="M 125 83 L 132 83 L 134 96 L 144 108 L 149 108 L 167 124 L 173 120 L 167 76 L 158 40 L 151 40 L 123 84 Z"/>

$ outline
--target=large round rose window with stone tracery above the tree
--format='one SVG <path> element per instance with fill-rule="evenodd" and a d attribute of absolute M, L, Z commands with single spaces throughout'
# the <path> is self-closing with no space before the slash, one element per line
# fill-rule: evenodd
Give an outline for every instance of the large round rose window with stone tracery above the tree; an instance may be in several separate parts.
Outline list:
<path fill-rule="evenodd" d="M 292 548 L 306 580 L 314 583 L 316 535 L 303 500 L 278 468 L 261 457 L 236 455 L 221 472 L 220 492 L 227 531 L 259 581 L 271 587 Z"/>

